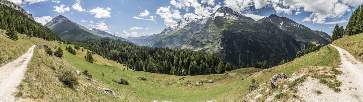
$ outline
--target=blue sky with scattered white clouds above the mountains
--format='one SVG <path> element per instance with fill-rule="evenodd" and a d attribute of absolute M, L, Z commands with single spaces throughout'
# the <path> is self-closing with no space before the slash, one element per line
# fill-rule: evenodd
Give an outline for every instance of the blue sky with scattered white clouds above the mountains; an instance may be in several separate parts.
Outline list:
<path fill-rule="evenodd" d="M 346 26 L 363 0 L 9 0 L 45 24 L 63 15 L 88 29 L 119 37 L 161 33 L 185 17 L 211 14 L 230 7 L 259 20 L 276 14 L 331 35 L 336 24 Z"/>

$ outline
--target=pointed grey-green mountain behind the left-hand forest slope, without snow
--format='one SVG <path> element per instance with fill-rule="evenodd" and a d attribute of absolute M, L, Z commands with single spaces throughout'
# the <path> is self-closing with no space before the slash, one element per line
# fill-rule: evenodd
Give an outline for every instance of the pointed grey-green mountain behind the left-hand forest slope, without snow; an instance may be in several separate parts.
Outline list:
<path fill-rule="evenodd" d="M 94 33 L 62 15 L 53 18 L 52 21 L 49 21 L 44 26 L 52 29 L 54 33 L 67 41 L 78 42 L 82 39 L 102 38 L 101 35 Z"/>

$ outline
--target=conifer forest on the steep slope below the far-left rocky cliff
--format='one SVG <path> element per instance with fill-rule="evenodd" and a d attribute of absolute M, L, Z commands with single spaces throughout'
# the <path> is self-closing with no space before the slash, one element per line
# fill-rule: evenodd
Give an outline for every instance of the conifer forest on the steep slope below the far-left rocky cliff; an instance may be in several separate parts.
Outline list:
<path fill-rule="evenodd" d="M 48 41 L 62 41 L 61 38 L 53 33 L 48 27 L 33 21 L 19 10 L 0 4 L 0 29 L 15 30 L 18 33 L 29 37 L 43 38 Z"/>

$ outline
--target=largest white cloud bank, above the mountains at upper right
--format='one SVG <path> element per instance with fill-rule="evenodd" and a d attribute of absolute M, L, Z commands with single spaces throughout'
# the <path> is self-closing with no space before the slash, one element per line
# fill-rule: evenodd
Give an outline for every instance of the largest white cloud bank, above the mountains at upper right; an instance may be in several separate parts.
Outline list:
<path fill-rule="evenodd" d="M 350 12 L 351 6 L 363 3 L 363 0 L 224 0 L 225 7 L 230 7 L 238 12 L 243 12 L 251 7 L 261 9 L 272 7 L 276 13 L 300 14 L 301 10 L 311 12 L 311 22 L 324 24 L 327 18 L 339 18 Z M 303 21 L 309 21 L 304 19 Z"/>

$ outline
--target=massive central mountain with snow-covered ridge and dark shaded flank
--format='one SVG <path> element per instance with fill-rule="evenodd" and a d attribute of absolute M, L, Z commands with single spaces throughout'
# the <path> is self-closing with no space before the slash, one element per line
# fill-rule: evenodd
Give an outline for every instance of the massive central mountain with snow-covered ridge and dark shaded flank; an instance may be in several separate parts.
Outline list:
<path fill-rule="evenodd" d="M 149 37 L 126 38 L 151 47 L 203 51 L 241 65 L 267 60 L 277 65 L 291 61 L 301 45 L 291 34 L 271 22 L 258 23 L 231 8 L 219 8 L 210 15 L 188 17 Z"/>

